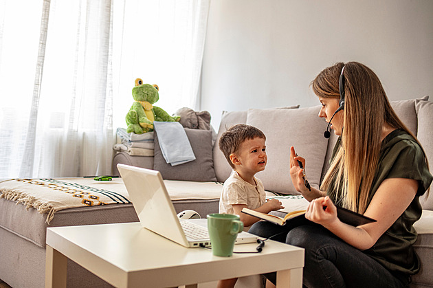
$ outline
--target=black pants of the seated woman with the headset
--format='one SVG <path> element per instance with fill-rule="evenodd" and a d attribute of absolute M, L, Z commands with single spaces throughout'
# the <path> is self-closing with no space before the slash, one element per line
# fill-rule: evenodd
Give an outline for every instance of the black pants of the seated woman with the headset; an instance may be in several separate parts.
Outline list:
<path fill-rule="evenodd" d="M 265 238 L 276 235 L 271 239 L 303 247 L 304 287 L 384 288 L 404 287 L 408 284 L 407 278 L 399 280 L 380 263 L 337 238 L 322 225 L 311 223 L 290 229 L 260 221 L 252 225 L 248 232 Z M 276 284 L 275 273 L 265 276 Z"/>

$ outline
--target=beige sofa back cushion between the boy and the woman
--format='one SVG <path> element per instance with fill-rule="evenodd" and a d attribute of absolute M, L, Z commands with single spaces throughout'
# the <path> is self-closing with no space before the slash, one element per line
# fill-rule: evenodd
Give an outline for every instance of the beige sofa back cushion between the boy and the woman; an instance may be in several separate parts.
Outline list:
<path fill-rule="evenodd" d="M 305 172 L 311 186 L 318 188 L 328 140 L 323 137 L 326 122 L 318 117 L 320 106 L 300 109 L 249 109 L 247 124 L 266 135 L 268 162 L 257 173 L 266 190 L 299 194 L 289 175 L 290 146 L 306 159 Z"/>

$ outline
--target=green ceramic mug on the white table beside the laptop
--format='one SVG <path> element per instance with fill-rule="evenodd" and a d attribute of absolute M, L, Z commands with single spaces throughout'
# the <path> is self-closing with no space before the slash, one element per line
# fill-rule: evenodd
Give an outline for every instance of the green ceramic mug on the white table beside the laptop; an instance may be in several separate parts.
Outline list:
<path fill-rule="evenodd" d="M 243 223 L 238 215 L 208 214 L 208 231 L 212 254 L 215 256 L 232 256 L 234 241 L 243 230 Z"/>

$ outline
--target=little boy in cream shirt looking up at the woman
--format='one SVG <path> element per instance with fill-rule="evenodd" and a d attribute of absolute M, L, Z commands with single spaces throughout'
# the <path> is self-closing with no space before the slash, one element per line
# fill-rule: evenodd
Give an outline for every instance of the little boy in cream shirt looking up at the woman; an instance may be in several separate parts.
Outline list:
<path fill-rule="evenodd" d="M 219 212 L 237 214 L 246 228 L 259 219 L 241 213 L 249 208 L 263 213 L 282 209 L 276 199 L 265 201 L 266 193 L 262 181 L 254 177 L 265 170 L 267 163 L 266 136 L 260 129 L 246 124 L 237 124 L 221 135 L 219 148 L 233 171 L 224 182 L 219 201 Z M 237 278 L 220 280 L 217 287 L 234 287 Z"/>

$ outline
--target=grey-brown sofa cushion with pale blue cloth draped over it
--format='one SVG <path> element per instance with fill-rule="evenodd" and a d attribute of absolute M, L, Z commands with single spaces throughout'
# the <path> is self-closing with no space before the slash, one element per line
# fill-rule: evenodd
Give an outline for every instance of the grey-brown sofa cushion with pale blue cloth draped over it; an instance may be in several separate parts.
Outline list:
<path fill-rule="evenodd" d="M 157 133 L 155 133 L 155 151 L 153 169 L 158 170 L 162 178 L 185 181 L 216 181 L 214 163 L 212 160 L 212 131 L 201 129 L 185 129 L 195 160 L 171 166 L 162 155 Z"/>

